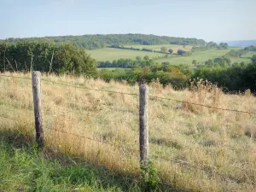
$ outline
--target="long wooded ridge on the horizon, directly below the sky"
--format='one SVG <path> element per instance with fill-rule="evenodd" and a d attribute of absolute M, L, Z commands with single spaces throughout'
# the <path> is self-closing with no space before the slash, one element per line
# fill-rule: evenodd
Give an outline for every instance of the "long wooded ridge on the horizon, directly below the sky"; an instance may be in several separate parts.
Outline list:
<path fill-rule="evenodd" d="M 81 35 L 81 36 L 59 36 L 59 37 L 44 37 L 44 38 L 8 38 L 7 41 L 15 44 L 18 41 L 50 41 L 56 44 L 71 43 L 76 47 L 85 49 L 103 48 L 109 44 L 117 45 L 154 45 L 154 44 L 195 44 L 204 45 L 206 42 L 198 38 L 174 38 L 168 36 L 156 36 L 145 34 L 96 34 L 96 35 Z M 4 40 L 0 40 L 0 43 Z"/>

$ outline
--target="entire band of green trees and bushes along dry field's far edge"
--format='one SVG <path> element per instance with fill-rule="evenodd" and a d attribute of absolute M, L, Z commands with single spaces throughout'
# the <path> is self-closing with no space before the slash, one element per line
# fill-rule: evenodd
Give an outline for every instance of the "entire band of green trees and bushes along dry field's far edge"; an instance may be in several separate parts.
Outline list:
<path fill-rule="evenodd" d="M 250 49 L 253 49 L 251 47 Z M 242 51 L 247 51 L 243 49 Z M 241 55 L 241 51 L 230 51 L 229 55 Z M 107 82 L 110 79 L 126 80 L 130 84 L 158 79 L 164 86 L 172 84 L 177 89 L 188 86 L 189 79 L 207 79 L 213 84 L 225 87 L 227 90 L 256 91 L 256 55 L 251 63 L 231 63 L 229 56 L 208 60 L 203 66 L 192 70 L 190 66 L 172 66 L 170 63 L 157 63 L 137 56 L 136 60 L 120 59 L 117 61 L 98 62 L 87 55 L 84 49 L 73 44 L 55 44 L 54 42 L 19 41 L 17 44 L 0 43 L 0 71 L 29 72 L 38 70 L 43 73 L 69 73 L 101 78 Z M 130 69 L 113 71 L 100 70 L 96 67 L 126 67 Z"/>

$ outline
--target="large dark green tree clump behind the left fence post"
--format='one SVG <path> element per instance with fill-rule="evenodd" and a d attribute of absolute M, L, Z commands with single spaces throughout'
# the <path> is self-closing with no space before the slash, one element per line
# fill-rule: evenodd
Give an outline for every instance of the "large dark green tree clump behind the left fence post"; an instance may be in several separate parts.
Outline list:
<path fill-rule="evenodd" d="M 31 71 L 96 75 L 96 61 L 72 44 L 26 42 L 0 44 L 0 71 Z M 50 67 L 52 64 L 52 67 Z"/>

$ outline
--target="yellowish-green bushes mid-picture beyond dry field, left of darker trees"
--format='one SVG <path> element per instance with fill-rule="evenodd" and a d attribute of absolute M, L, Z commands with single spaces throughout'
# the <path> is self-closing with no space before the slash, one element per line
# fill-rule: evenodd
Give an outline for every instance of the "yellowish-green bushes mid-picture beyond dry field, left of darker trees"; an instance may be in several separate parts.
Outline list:
<path fill-rule="evenodd" d="M 155 79 L 160 79 L 160 84 L 163 84 L 164 86 L 166 84 L 172 84 L 175 88 L 182 88 L 186 84 L 186 80 L 192 74 L 192 70 L 185 65 L 172 66 L 170 63 L 158 64 L 154 63 L 152 60 L 140 62 L 119 60 L 116 63 L 120 63 L 121 65 L 121 62 L 123 61 L 126 63 L 130 61 L 134 67 L 126 70 L 117 68 L 112 71 L 104 69 L 99 72 L 99 77 L 107 82 L 110 81 L 110 79 L 118 81 L 126 80 L 130 84 L 135 84 L 142 80 L 150 83 Z M 106 62 L 101 63 L 104 65 L 108 64 Z M 109 62 L 108 66 L 113 67 L 113 63 Z"/>

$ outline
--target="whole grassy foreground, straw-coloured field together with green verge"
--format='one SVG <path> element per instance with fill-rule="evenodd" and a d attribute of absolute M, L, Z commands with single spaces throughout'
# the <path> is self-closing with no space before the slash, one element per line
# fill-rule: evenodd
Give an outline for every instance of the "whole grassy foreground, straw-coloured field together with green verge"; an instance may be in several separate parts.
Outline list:
<path fill-rule="evenodd" d="M 30 78 L 29 74 L 12 75 Z M 43 154 L 48 159 L 38 159 L 38 156 L 26 154 L 24 149 L 16 150 L 13 146 L 4 149 L 12 144 L 3 141 L 0 191 L 17 191 L 20 186 L 28 191 L 57 191 L 56 188 L 61 191 L 64 187 L 67 187 L 67 191 L 79 187 L 84 191 L 90 191 L 89 188 L 94 191 L 106 186 L 106 183 L 109 183 L 110 191 L 121 191 L 124 185 L 129 186 L 127 183 L 131 183 L 131 188 L 124 190 L 139 191 L 137 184 L 133 184 L 137 183 L 139 176 L 138 96 L 84 90 L 45 80 L 90 89 L 138 93 L 137 84 L 129 86 L 125 82 L 111 81 L 107 84 L 100 79 L 83 77 L 43 76 L 46 138 Z M 13 135 L 8 140 L 13 143 L 32 142 L 31 80 L 0 77 L 0 86 L 1 136 L 8 138 L 9 134 Z M 151 96 L 256 113 L 254 96 L 224 95 L 214 87 L 200 87 L 192 92 L 175 91 L 172 86 L 163 89 L 155 82 L 149 85 L 149 92 Z M 163 191 L 256 191 L 255 115 L 153 97 L 148 101 L 148 115 L 150 160 L 154 162 L 163 183 L 169 184 L 168 188 L 160 185 Z M 20 137 L 22 139 L 19 140 Z M 61 171 L 68 166 L 63 155 L 78 167 L 81 167 L 79 160 L 86 165 L 94 165 L 94 170 L 104 167 L 104 172 L 98 173 L 102 177 L 90 179 L 85 166 L 84 171 L 78 171 L 83 177 L 81 181 L 76 182 L 77 177 L 74 176 L 75 182 L 71 183 L 73 168 L 68 172 Z M 55 164 L 48 161 L 50 157 L 57 159 Z M 52 176 L 49 170 L 57 176 Z M 92 175 L 97 172 L 94 170 L 91 171 Z M 84 178 L 87 174 L 88 177 Z M 109 175 L 119 177 L 119 180 L 108 181 Z M 43 190 L 43 187 L 47 189 Z M 102 189 L 105 190 L 108 189 Z"/>

